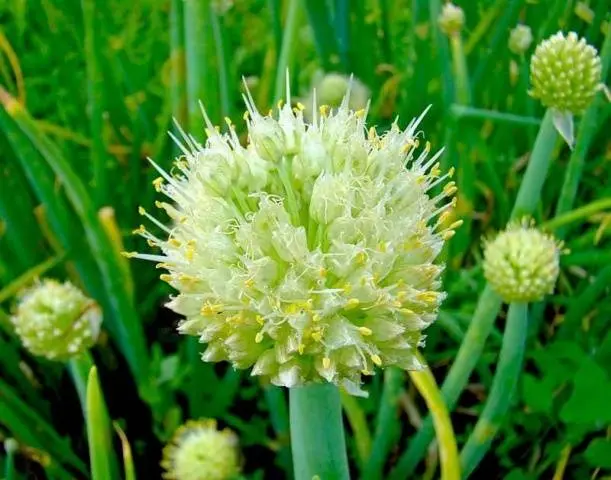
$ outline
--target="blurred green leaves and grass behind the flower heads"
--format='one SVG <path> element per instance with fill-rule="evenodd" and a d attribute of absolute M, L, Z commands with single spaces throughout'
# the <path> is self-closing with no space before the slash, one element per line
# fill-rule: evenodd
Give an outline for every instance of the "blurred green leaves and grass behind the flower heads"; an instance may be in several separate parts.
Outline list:
<path fill-rule="evenodd" d="M 162 445 L 184 420 L 200 417 L 239 434 L 247 478 L 290 478 L 284 391 L 203 364 L 201 347 L 178 336 L 178 319 L 163 308 L 171 292 L 159 271 L 120 256 L 148 248 L 131 231 L 138 207 L 158 199 L 147 157 L 171 169 L 172 117 L 203 138 L 201 100 L 213 122 L 231 117 L 244 131 L 243 85 L 267 111 L 284 94 L 286 69 L 302 100 L 326 73 L 354 75 L 379 131 L 432 106 L 423 137 L 445 145 L 444 164 L 457 167 L 457 215 L 465 220 L 446 256 L 449 296 L 424 350 L 441 382 L 484 285 L 482 235 L 508 220 L 543 114 L 528 96 L 535 45 L 573 30 L 599 50 L 605 45 L 604 72 L 610 50 L 605 0 L 459 4 L 466 24 L 457 59 L 437 26 L 440 0 L 2 1 L 0 439 L 20 442 L 15 478 L 45 478 L 51 461 L 59 467 L 46 469 L 49 478 L 87 478 L 68 374 L 29 356 L 8 321 L 21 288 L 42 276 L 70 279 L 104 309 L 93 353 L 139 478 L 159 478 Z M 518 23 L 534 37 L 523 55 L 507 47 Z M 556 216 L 571 155 L 558 143 L 535 215 L 570 253 L 556 293 L 533 308 L 519 396 L 473 478 L 611 478 L 611 108 L 601 94 L 592 109 L 585 127 L 577 123 L 586 161 L 570 214 Z M 503 325 L 502 314 L 453 413 L 459 442 L 486 399 Z M 381 376 L 367 388 L 370 397 L 355 408 L 373 435 Z M 425 414 L 406 379 L 387 470 Z M 352 439 L 349 450 L 358 478 Z M 0 454 L 0 467 L 5 461 Z M 435 478 L 436 464 L 433 447 L 416 478 Z"/>

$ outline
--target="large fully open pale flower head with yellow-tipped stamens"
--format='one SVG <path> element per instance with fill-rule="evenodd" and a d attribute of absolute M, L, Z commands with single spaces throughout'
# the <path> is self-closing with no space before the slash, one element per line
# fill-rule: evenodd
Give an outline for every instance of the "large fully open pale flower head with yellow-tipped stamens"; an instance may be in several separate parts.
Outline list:
<path fill-rule="evenodd" d="M 206 119 L 205 145 L 184 134 L 173 175 L 159 169 L 173 224 L 141 210 L 165 238 L 138 232 L 162 254 L 128 256 L 168 270 L 179 292 L 168 306 L 207 344 L 205 361 L 353 393 L 376 366 L 420 366 L 415 349 L 445 297 L 433 262 L 459 224 L 442 226 L 452 172 L 428 144 L 416 153 L 424 114 L 380 136 L 348 102 L 306 123 L 290 97 L 276 117 L 248 96 L 246 147 L 231 122 L 221 134 Z"/>

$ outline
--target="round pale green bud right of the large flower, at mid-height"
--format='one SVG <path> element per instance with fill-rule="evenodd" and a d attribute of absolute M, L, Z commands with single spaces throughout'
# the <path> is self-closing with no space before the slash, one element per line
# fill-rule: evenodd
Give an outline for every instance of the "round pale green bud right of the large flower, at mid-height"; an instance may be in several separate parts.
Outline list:
<path fill-rule="evenodd" d="M 527 223 L 514 223 L 487 240 L 484 276 L 503 301 L 536 302 L 552 293 L 562 244 Z"/>

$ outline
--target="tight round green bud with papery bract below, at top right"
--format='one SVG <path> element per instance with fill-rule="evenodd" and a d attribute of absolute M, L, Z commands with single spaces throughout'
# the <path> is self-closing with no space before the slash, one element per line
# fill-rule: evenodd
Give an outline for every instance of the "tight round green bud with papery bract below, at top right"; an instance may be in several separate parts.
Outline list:
<path fill-rule="evenodd" d="M 530 94 L 546 107 L 582 114 L 600 87 L 600 57 L 576 33 L 558 32 L 537 46 L 530 81 Z"/>

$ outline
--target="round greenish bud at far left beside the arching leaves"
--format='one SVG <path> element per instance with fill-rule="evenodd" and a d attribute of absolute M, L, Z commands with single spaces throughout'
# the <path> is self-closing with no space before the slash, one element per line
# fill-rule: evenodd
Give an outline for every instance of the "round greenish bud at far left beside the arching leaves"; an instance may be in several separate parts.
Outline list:
<path fill-rule="evenodd" d="M 70 282 L 44 280 L 22 296 L 11 322 L 32 354 L 65 361 L 93 346 L 102 312 Z"/>

